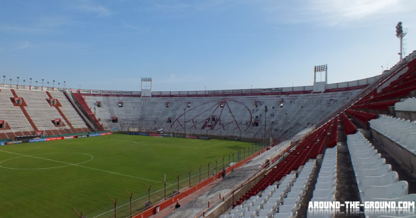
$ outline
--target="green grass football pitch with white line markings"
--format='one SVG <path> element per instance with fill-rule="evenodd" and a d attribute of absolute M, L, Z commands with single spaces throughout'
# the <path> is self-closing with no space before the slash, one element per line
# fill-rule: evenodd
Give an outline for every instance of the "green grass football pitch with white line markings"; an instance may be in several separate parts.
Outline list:
<path fill-rule="evenodd" d="M 250 148 L 250 149 L 249 149 Z M 163 198 L 166 173 L 167 195 L 214 172 L 228 162 L 260 149 L 247 142 L 191 140 L 138 135 L 108 135 L 72 140 L 0 146 L 0 217 L 76 217 L 73 208 L 87 217 L 113 217 L 130 214 L 129 196 L 133 192 L 133 212 L 144 207 L 151 187 L 153 203 Z M 244 153 L 244 154 L 243 154 Z M 224 159 L 223 159 L 224 157 Z M 231 160 L 228 160 L 231 158 Z M 123 206 L 125 205 L 125 206 Z"/>

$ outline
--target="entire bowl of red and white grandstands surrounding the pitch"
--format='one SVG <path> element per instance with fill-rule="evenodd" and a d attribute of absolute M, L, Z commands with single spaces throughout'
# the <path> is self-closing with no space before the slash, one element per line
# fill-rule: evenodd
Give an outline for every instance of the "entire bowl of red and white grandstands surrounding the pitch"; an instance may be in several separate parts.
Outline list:
<path fill-rule="evenodd" d="M 195 210 L 187 216 L 193 217 L 320 217 L 308 212 L 310 201 L 415 201 L 415 59 L 414 51 L 380 76 L 325 84 L 323 90 L 312 85 L 142 96 L 2 84 L 0 139 L 164 131 L 278 148 L 252 160 L 250 167 L 258 170 L 244 184 L 218 185 L 222 201 L 214 201 L 214 193 L 205 198 L 211 205 L 190 203 Z M 156 206 L 139 216 L 155 213 Z"/>

